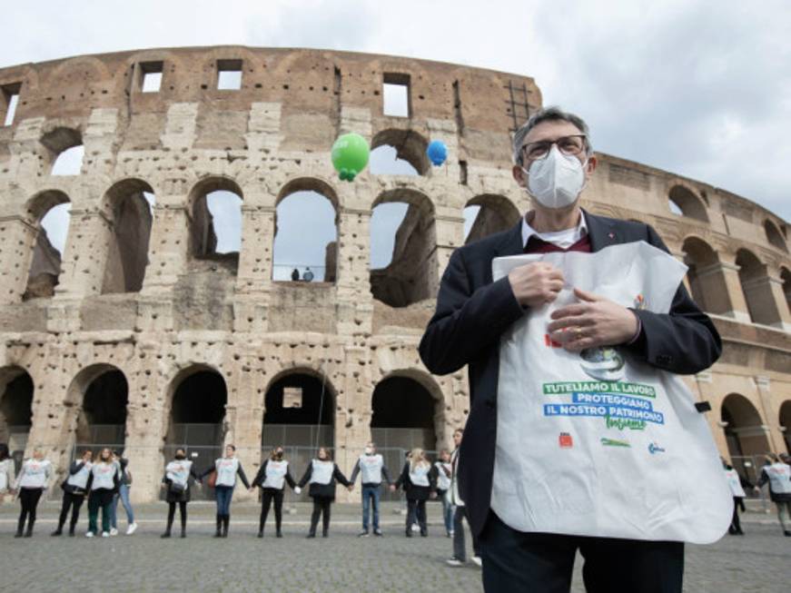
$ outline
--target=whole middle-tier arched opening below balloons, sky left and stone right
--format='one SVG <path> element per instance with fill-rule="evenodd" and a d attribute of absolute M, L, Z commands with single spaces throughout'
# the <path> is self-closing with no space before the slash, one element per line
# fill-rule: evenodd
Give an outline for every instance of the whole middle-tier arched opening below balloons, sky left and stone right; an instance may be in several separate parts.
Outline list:
<path fill-rule="evenodd" d="M 430 299 L 437 287 L 434 206 L 423 193 L 382 193 L 371 215 L 371 293 L 391 307 Z"/>

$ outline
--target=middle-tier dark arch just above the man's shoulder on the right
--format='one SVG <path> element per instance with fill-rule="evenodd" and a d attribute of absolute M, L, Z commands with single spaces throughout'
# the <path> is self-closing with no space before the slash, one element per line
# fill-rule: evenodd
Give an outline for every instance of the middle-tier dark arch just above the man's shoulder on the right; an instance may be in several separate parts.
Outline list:
<path fill-rule="evenodd" d="M 717 252 L 705 240 L 687 237 L 681 245 L 692 299 L 704 311 L 727 313 L 733 306 Z"/>

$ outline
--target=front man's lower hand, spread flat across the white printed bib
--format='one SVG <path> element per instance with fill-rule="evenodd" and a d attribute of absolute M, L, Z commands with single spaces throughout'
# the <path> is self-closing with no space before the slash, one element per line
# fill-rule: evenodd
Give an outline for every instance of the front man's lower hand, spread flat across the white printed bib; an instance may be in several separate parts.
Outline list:
<path fill-rule="evenodd" d="M 549 338 L 563 348 L 578 352 L 598 346 L 618 346 L 638 331 L 638 317 L 626 307 L 591 292 L 574 289 L 577 304 L 552 313 Z"/>

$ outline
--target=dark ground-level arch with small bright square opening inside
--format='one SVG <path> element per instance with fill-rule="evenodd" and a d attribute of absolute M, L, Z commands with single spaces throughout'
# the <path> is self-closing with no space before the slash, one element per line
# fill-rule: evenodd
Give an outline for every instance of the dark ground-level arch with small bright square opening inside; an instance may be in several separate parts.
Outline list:
<path fill-rule="evenodd" d="M 278 372 L 263 398 L 262 447 L 282 445 L 307 453 L 334 448 L 338 392 L 326 373 L 297 365 Z"/>

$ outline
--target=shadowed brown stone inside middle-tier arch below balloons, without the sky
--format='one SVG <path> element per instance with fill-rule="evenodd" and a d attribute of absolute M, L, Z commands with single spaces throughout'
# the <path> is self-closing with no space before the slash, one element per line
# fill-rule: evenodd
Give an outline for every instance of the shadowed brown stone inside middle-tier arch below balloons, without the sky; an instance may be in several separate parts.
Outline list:
<path fill-rule="evenodd" d="M 395 231 L 390 263 L 371 270 L 371 294 L 391 307 L 407 307 L 432 298 L 438 289 L 434 204 L 425 193 L 398 188 L 377 197 L 372 216 L 384 203 L 405 203 L 407 209 Z"/>

